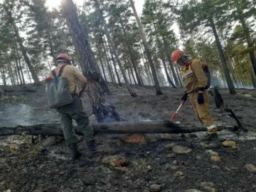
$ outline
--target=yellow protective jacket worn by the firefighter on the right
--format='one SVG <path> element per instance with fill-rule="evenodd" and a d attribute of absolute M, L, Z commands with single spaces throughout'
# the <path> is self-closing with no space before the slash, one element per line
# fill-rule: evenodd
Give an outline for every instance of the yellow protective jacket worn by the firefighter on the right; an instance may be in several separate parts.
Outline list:
<path fill-rule="evenodd" d="M 198 91 L 198 88 L 206 87 L 208 79 L 203 72 L 202 63 L 198 59 L 191 59 L 183 67 L 183 81 L 186 92 Z"/>

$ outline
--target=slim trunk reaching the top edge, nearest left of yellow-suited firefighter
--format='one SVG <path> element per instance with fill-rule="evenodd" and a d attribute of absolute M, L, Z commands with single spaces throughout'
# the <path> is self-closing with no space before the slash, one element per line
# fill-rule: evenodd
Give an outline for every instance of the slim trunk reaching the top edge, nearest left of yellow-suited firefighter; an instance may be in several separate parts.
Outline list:
<path fill-rule="evenodd" d="M 141 24 L 141 22 L 139 20 L 139 16 L 138 16 L 137 11 L 135 9 L 133 0 L 130 0 L 130 3 L 131 3 L 131 6 L 133 8 L 133 13 L 134 13 L 134 16 L 136 18 L 137 24 L 139 26 L 139 32 L 140 32 L 140 35 L 141 35 L 142 40 L 143 40 L 143 44 L 144 44 L 144 48 L 145 48 L 145 53 L 147 55 L 147 58 L 148 58 L 148 61 L 149 61 L 149 66 L 151 68 L 151 72 L 152 72 L 152 75 L 153 75 L 153 79 L 154 79 L 154 83 L 155 83 L 156 95 L 163 95 L 163 92 L 161 91 L 161 88 L 160 88 L 160 85 L 159 85 L 159 81 L 157 79 L 157 75 L 156 75 L 156 72 L 155 72 L 155 67 L 154 67 L 154 64 L 153 64 L 153 61 L 152 61 L 152 58 L 151 58 L 151 53 L 150 53 L 150 50 L 149 50 L 149 45 L 148 45 L 146 37 L 144 35 L 143 27 L 142 27 L 142 24 Z"/>

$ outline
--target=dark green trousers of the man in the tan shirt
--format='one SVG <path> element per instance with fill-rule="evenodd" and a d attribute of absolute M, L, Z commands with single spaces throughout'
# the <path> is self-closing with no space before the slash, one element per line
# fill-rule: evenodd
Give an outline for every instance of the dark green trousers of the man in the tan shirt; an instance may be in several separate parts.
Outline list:
<path fill-rule="evenodd" d="M 93 130 L 89 121 L 89 117 L 85 117 L 86 113 L 82 106 L 82 101 L 78 96 L 72 94 L 74 102 L 57 108 L 60 117 L 61 128 L 67 143 L 77 143 L 78 138 L 75 134 L 72 120 L 78 124 L 79 129 L 85 135 L 85 142 L 91 141 L 94 138 Z"/>

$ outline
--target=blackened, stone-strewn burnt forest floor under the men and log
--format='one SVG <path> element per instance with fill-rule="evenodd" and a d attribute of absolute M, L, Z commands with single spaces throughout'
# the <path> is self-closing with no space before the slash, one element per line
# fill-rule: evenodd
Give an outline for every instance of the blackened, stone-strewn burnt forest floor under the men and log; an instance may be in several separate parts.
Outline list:
<path fill-rule="evenodd" d="M 112 95 L 107 96 L 125 121 L 170 119 L 184 91 L 163 88 L 165 94 L 156 96 L 153 87 L 133 87 L 138 97 L 131 97 L 125 87 L 112 85 Z M 59 123 L 58 113 L 48 108 L 43 85 L 3 89 L 6 95 L 0 97 L 0 127 Z M 221 131 L 221 142 L 232 140 L 235 146 L 213 151 L 203 138 L 206 132 L 158 139 L 157 134 L 132 135 L 139 139 L 138 144 L 123 142 L 126 134 L 96 134 L 102 153 L 88 159 L 81 141 L 78 146 L 83 155 L 71 162 L 63 137 L 35 137 L 32 144 L 27 135 L 1 136 L 0 192 L 256 191 L 256 91 L 236 91 L 237 95 L 230 95 L 227 89 L 221 89 L 221 94 L 249 132 L 237 136 Z M 90 112 L 87 96 L 82 100 Z M 235 124 L 227 112 L 216 109 L 213 98 L 210 101 L 217 123 Z M 90 120 L 96 123 L 95 117 Z M 189 101 L 176 121 L 187 127 L 200 124 Z"/>

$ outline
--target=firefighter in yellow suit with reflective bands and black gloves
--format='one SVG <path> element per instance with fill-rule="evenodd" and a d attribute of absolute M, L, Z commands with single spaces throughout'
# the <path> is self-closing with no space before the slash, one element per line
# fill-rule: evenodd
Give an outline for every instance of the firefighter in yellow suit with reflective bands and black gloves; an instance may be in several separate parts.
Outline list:
<path fill-rule="evenodd" d="M 187 101 L 189 96 L 192 107 L 197 118 L 206 125 L 208 131 L 208 140 L 212 141 L 208 146 L 218 148 L 218 129 L 213 121 L 209 110 L 209 99 L 206 89 L 209 88 L 210 80 L 205 75 L 203 65 L 198 59 L 189 59 L 182 50 L 177 49 L 171 54 L 174 65 L 180 64 L 183 67 L 183 81 L 186 91 L 181 100 Z"/>

